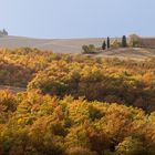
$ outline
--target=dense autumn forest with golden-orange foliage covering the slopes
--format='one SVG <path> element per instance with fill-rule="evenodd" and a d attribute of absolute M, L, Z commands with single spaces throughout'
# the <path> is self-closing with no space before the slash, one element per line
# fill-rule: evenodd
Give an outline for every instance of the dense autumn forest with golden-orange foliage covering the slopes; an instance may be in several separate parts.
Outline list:
<path fill-rule="evenodd" d="M 154 155 L 155 59 L 0 50 L 0 155 Z"/>

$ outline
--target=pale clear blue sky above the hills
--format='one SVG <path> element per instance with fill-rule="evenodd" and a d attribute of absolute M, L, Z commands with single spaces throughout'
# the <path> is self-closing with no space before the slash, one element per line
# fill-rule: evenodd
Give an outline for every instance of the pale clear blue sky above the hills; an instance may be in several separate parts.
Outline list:
<path fill-rule="evenodd" d="M 0 29 L 10 35 L 155 35 L 155 0 L 0 0 Z"/>

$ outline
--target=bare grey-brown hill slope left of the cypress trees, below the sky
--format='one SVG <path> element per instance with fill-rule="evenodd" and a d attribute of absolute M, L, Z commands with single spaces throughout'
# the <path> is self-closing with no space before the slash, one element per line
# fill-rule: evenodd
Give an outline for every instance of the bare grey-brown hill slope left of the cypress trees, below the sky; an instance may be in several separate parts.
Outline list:
<path fill-rule="evenodd" d="M 101 46 L 103 39 L 31 39 L 23 37 L 0 38 L 1 48 L 38 48 L 40 50 L 52 50 L 56 53 L 80 53 L 83 44 L 95 44 Z"/>

